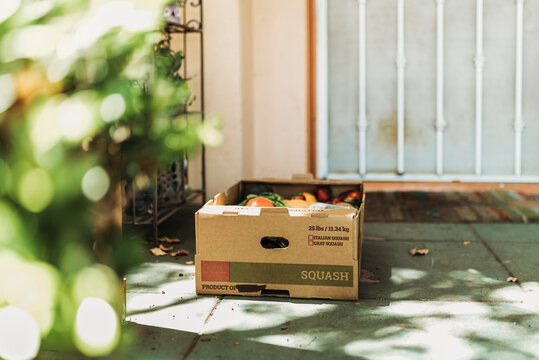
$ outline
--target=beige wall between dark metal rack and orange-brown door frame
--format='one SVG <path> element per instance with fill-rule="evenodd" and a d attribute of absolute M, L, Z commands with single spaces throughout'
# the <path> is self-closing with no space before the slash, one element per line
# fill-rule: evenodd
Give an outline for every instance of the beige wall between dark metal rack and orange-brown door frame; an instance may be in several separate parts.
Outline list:
<path fill-rule="evenodd" d="M 206 0 L 204 27 L 206 112 L 223 117 L 225 135 L 207 151 L 208 195 L 305 172 L 306 1 Z"/>

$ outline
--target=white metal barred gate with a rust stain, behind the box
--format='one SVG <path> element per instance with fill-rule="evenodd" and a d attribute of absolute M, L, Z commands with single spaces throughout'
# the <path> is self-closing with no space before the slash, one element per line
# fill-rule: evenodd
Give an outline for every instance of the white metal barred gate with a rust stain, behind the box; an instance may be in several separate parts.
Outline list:
<path fill-rule="evenodd" d="M 539 181 L 539 1 L 316 5 L 318 177 Z"/>

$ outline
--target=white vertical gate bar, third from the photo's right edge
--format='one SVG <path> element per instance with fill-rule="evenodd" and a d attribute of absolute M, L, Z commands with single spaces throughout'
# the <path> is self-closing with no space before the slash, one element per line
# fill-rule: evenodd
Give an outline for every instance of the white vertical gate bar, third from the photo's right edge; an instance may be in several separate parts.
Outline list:
<path fill-rule="evenodd" d="M 436 174 L 443 174 L 444 156 L 444 2 L 436 0 Z"/>

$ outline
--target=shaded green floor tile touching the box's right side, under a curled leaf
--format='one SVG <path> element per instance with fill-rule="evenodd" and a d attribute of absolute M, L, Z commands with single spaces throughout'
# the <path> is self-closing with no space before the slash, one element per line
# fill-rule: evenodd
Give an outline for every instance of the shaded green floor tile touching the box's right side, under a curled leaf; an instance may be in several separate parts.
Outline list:
<path fill-rule="evenodd" d="M 428 248 L 412 256 L 413 248 Z M 507 272 L 480 242 L 365 241 L 362 268 L 379 283 L 360 283 L 361 298 L 493 300 Z"/>

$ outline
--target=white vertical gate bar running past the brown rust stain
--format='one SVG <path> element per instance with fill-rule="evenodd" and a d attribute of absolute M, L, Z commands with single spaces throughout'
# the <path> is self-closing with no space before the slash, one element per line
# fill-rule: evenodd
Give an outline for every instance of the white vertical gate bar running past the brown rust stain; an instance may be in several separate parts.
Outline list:
<path fill-rule="evenodd" d="M 397 0 L 397 173 L 404 174 L 404 0 Z"/>

